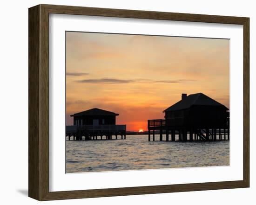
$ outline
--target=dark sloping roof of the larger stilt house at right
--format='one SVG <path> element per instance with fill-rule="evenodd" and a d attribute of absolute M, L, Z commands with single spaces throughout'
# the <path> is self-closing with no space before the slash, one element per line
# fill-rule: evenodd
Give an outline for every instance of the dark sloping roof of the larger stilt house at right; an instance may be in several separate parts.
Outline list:
<path fill-rule="evenodd" d="M 168 109 L 165 109 L 163 112 L 188 109 L 192 105 L 222 106 L 228 110 L 227 107 L 204 95 L 203 93 L 196 93 L 185 97 L 185 99 L 180 100 L 179 102 L 176 102 L 174 105 L 170 106 Z"/>

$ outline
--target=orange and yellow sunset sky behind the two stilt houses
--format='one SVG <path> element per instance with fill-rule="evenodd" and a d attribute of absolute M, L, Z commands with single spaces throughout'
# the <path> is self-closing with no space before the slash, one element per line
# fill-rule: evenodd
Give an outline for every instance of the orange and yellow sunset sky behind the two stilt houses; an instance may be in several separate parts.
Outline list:
<path fill-rule="evenodd" d="M 106 109 L 128 131 L 182 93 L 202 92 L 229 108 L 229 40 L 66 32 L 66 124 L 69 115 Z"/>

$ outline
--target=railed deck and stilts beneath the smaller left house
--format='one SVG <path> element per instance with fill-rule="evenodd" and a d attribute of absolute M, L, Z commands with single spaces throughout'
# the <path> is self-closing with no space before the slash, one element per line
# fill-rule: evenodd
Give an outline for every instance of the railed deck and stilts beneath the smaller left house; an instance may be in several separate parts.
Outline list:
<path fill-rule="evenodd" d="M 126 139 L 126 125 L 73 125 L 66 126 L 66 137 L 73 140 Z"/>

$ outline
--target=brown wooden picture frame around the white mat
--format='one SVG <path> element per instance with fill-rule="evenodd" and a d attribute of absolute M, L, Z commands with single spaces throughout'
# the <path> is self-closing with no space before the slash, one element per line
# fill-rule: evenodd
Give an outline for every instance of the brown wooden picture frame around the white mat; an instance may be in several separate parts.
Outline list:
<path fill-rule="evenodd" d="M 49 13 L 243 25 L 243 180 L 49 192 Z M 249 18 L 79 6 L 29 8 L 29 189 L 37 200 L 249 187 Z"/>

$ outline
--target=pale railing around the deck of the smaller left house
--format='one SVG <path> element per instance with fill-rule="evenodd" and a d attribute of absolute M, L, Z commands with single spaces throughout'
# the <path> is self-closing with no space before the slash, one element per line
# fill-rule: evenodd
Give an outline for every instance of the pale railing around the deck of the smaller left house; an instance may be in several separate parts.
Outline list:
<path fill-rule="evenodd" d="M 126 130 L 126 125 L 71 125 L 66 126 L 67 132 L 76 132 L 77 130 Z"/>

